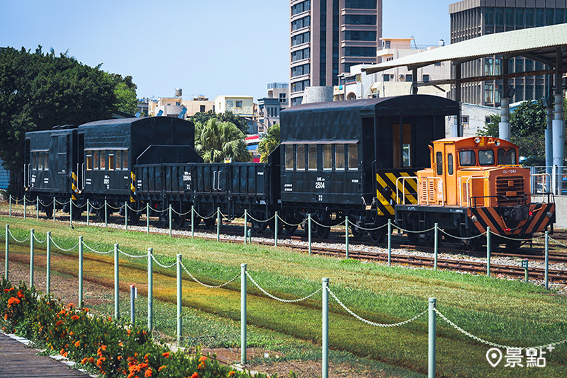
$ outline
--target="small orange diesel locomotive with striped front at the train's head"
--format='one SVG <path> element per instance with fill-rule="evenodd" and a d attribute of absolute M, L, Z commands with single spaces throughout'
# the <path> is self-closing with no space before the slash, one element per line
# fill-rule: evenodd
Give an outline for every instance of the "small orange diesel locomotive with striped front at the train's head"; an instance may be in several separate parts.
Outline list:
<path fill-rule="evenodd" d="M 410 240 L 431 241 L 439 224 L 447 234 L 471 238 L 487 227 L 496 244 L 517 248 L 534 232 L 553 227 L 553 195 L 539 194 L 532 202 L 529 168 L 518 164 L 518 147 L 493 137 L 445 138 L 432 142 L 431 166 L 417 172 L 417 205 L 401 202 L 395 206 L 398 227 L 422 233 L 408 233 Z M 413 178 L 415 183 L 415 178 Z M 398 190 L 407 193 L 402 178 Z M 485 238 L 464 239 L 469 248 L 479 248 Z"/>

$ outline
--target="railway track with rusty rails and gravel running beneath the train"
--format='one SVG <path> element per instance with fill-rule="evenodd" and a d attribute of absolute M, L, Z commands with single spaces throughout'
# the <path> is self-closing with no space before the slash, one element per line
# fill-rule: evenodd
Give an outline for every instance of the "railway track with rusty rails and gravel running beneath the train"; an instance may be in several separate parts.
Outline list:
<path fill-rule="evenodd" d="M 4 210 L 0 210 L 0 214 L 8 216 L 8 212 Z M 28 214 L 31 215 L 31 214 Z M 12 211 L 12 216 L 16 217 L 23 217 L 22 212 Z M 27 216 L 27 215 L 26 215 Z M 35 219 L 35 214 L 30 216 L 30 218 Z M 65 219 L 66 218 L 66 219 Z M 40 219 L 50 220 L 45 217 L 40 217 Z M 69 222 L 69 217 L 59 217 L 58 220 L 60 222 Z M 121 222 L 120 222 L 121 221 Z M 85 222 L 78 221 L 79 223 L 85 224 Z M 116 225 L 123 225 L 123 217 L 120 217 L 116 214 L 113 214 L 111 219 L 109 219 L 109 224 L 116 224 Z M 143 222 L 142 222 L 143 223 Z M 150 218 L 150 225 L 152 228 L 150 231 L 152 234 L 163 234 L 163 232 L 157 231 L 157 229 L 161 229 L 159 226 L 158 219 Z M 142 231 L 140 225 L 130 225 L 132 231 Z M 137 229 L 137 230 L 135 230 Z M 188 232 L 187 228 L 183 229 L 176 229 L 175 236 L 184 236 L 179 234 L 179 231 Z M 205 233 L 208 234 L 209 239 L 215 239 L 216 233 L 207 232 L 207 229 L 203 229 L 201 227 L 196 228 L 196 232 L 198 233 Z M 556 231 L 557 232 L 557 231 Z M 558 233 L 559 234 L 559 233 Z M 561 236 L 564 236 L 567 241 L 567 232 L 562 231 Z M 236 239 L 237 236 L 242 237 L 242 224 L 235 223 L 228 223 L 223 224 L 223 233 L 220 235 L 221 241 L 227 242 L 237 242 L 242 243 L 242 239 Z M 341 237 L 342 236 L 342 237 Z M 186 237 L 186 236 L 185 236 Z M 321 240 L 312 238 L 312 246 L 311 251 L 312 253 L 324 256 L 335 256 L 335 257 L 346 257 L 345 248 L 337 248 L 337 244 L 344 243 L 344 230 L 342 233 L 340 231 L 333 231 L 331 233 L 332 240 Z M 285 246 L 288 248 L 300 250 L 300 251 L 307 251 L 308 246 L 306 245 L 308 242 L 307 236 L 301 236 L 297 234 L 282 234 L 278 236 L 279 241 L 281 240 L 280 245 Z M 403 248 L 407 249 L 408 251 L 417 251 L 417 252 L 425 252 L 420 256 L 412 255 L 412 254 L 400 254 L 400 253 L 393 253 L 391 255 L 391 263 L 393 264 L 400 264 L 400 265 L 410 265 L 422 268 L 433 268 L 434 267 L 434 257 L 433 257 L 433 248 L 431 246 L 412 246 L 406 244 L 403 240 L 405 239 L 403 236 L 393 236 L 392 238 L 392 247 L 393 248 Z M 561 240 L 556 237 L 554 234 L 554 239 Z M 274 241 L 269 241 L 268 239 L 264 238 L 261 234 L 253 236 L 254 244 L 262 244 L 262 245 L 274 245 Z M 320 245 L 323 246 L 320 246 Z M 541 244 L 541 246 L 540 246 Z M 333 247 L 333 246 L 335 247 Z M 371 261 L 378 261 L 385 263 L 388 261 L 388 253 L 383 251 L 376 251 L 378 248 L 367 248 L 366 251 L 361 251 L 360 248 L 356 248 L 357 246 L 367 246 L 364 241 L 357 240 L 354 241 L 352 238 L 349 241 L 349 258 L 356 258 L 359 260 L 371 260 Z M 381 244 L 379 246 L 386 246 L 386 244 Z M 427 254 L 426 254 L 427 253 Z M 472 252 L 472 251 L 464 251 L 459 246 L 455 244 L 447 244 L 439 247 L 439 253 L 456 253 L 459 255 L 459 258 L 445 258 L 439 257 L 437 259 L 437 267 L 439 269 L 446 269 L 446 270 L 458 270 L 461 272 L 466 273 L 473 273 L 473 274 L 486 274 L 487 265 L 485 261 L 475 261 L 475 260 L 463 260 L 461 256 L 472 256 L 472 257 L 484 257 L 485 252 Z M 430 256 L 427 256 L 430 255 Z M 533 243 L 530 248 L 520 248 L 517 251 L 507 251 L 505 248 L 495 248 L 493 247 L 493 251 L 491 253 L 493 258 L 495 257 L 503 257 L 503 258 L 513 258 L 516 260 L 520 260 L 523 258 L 527 258 L 530 261 L 538 261 L 541 262 L 544 260 L 544 246 L 543 241 Z M 549 262 L 550 263 L 567 263 L 567 253 L 565 250 L 561 248 L 549 248 Z M 494 264 L 490 263 L 490 271 L 493 275 L 505 275 L 512 278 L 523 278 L 524 277 L 524 269 L 520 268 L 519 266 L 515 265 L 502 265 L 502 264 Z M 532 267 L 529 268 L 529 279 L 530 280 L 544 280 L 544 268 L 539 267 Z M 558 270 L 558 269 L 550 269 L 549 270 L 549 281 L 550 282 L 558 282 L 558 283 L 567 283 L 567 270 Z"/>

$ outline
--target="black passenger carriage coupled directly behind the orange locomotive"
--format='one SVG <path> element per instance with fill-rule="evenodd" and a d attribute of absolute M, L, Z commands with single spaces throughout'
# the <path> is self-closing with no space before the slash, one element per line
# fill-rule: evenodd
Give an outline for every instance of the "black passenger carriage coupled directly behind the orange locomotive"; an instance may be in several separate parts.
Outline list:
<path fill-rule="evenodd" d="M 338 224 L 344 215 L 364 227 L 386 223 L 393 219 L 397 177 L 430 166 L 430 141 L 444 137 L 445 116 L 458 113 L 459 103 L 427 95 L 283 110 L 281 214 L 296 224 L 308 213 L 321 224 Z M 409 181 L 405 188 L 415 201 L 417 188 Z M 317 229 L 321 237 L 328 230 Z M 353 234 L 364 232 L 354 227 Z M 383 234 L 371 236 L 379 241 Z"/>

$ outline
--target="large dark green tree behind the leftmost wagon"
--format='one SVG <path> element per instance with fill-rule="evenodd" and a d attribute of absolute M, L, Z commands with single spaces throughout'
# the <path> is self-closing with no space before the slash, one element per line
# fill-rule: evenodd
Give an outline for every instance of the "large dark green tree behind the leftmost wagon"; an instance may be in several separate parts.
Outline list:
<path fill-rule="evenodd" d="M 11 171 L 11 193 L 22 187 L 24 134 L 111 118 L 119 81 L 135 91 L 130 76 L 89 67 L 67 52 L 0 49 L 0 158 Z"/>

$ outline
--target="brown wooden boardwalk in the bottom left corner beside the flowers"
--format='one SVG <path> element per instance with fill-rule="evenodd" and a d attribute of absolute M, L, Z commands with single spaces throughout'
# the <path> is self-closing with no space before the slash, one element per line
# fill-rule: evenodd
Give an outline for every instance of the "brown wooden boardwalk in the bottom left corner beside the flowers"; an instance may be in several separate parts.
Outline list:
<path fill-rule="evenodd" d="M 0 378 L 90 377 L 0 333 Z"/>

